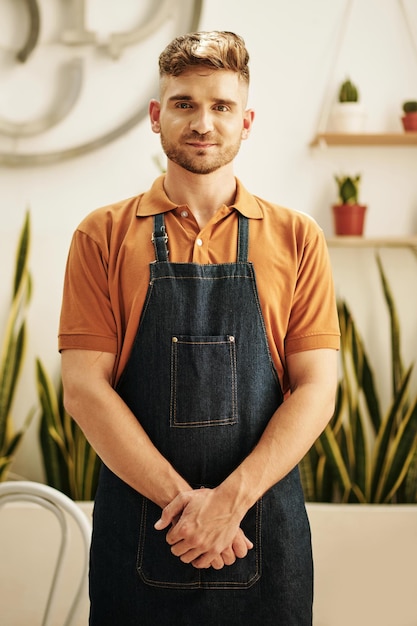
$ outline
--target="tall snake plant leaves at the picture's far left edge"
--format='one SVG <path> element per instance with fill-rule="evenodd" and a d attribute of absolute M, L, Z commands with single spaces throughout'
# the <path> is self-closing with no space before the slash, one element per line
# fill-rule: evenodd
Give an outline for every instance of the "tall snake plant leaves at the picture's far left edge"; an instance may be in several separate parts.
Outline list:
<path fill-rule="evenodd" d="M 23 427 L 15 430 L 12 408 L 24 361 L 26 311 L 32 292 L 28 269 L 29 248 L 30 215 L 27 211 L 16 252 L 13 296 L 0 357 L 0 481 L 6 480 L 18 446 L 33 416 L 33 412 L 30 412 Z"/>

